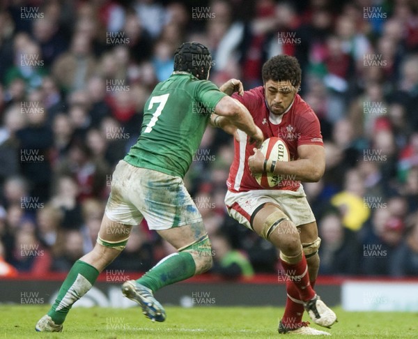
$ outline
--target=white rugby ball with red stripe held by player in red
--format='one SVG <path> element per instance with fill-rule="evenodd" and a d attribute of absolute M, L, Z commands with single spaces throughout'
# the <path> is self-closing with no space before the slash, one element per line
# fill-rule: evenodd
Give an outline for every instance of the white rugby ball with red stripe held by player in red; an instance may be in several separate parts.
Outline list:
<path fill-rule="evenodd" d="M 270 137 L 264 140 L 260 151 L 268 160 L 289 161 L 291 158 L 285 142 L 279 137 Z M 280 183 L 279 175 L 270 172 L 255 174 L 254 178 L 258 185 L 264 188 L 272 188 Z"/>

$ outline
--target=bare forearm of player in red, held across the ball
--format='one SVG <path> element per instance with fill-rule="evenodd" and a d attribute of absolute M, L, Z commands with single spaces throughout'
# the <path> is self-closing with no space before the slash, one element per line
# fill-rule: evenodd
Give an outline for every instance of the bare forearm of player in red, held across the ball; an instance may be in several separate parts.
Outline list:
<path fill-rule="evenodd" d="M 266 169 L 271 168 L 271 162 L 268 161 Z M 274 174 L 285 176 L 287 180 L 300 180 L 303 182 L 317 182 L 322 178 L 325 165 L 321 161 L 318 163 L 310 159 L 299 159 L 294 161 L 277 161 L 274 166 Z"/>

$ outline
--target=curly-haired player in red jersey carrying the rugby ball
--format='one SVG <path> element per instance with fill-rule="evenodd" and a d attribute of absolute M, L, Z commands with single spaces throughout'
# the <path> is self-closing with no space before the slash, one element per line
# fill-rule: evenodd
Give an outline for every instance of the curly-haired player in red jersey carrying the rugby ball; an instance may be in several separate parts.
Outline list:
<path fill-rule="evenodd" d="M 241 82 L 230 80 L 221 91 L 247 107 L 265 139 L 284 140 L 291 161 L 265 161 L 263 153 L 249 144 L 247 135 L 236 130 L 235 158 L 225 203 L 232 218 L 280 249 L 288 296 L 279 333 L 328 335 L 302 322 L 304 310 L 320 326 L 330 327 L 336 322 L 335 313 L 314 291 L 320 238 L 300 183 L 315 182 L 323 176 L 325 151 L 320 124 L 311 107 L 297 94 L 301 82 L 297 59 L 287 55 L 272 57 L 263 65 L 262 75 L 264 86 L 243 92 Z M 219 116 L 215 121 L 221 128 L 228 126 L 229 133 L 233 130 L 228 119 Z M 278 174 L 279 185 L 261 187 L 253 175 L 263 172 Z"/>

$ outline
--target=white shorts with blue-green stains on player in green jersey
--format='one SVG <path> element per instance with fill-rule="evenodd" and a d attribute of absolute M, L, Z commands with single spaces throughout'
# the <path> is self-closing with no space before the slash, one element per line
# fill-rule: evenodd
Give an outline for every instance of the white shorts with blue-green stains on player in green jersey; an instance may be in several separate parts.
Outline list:
<path fill-rule="evenodd" d="M 202 221 L 183 180 L 162 172 L 119 161 L 112 174 L 107 218 L 138 225 L 145 218 L 149 229 L 169 229 Z"/>

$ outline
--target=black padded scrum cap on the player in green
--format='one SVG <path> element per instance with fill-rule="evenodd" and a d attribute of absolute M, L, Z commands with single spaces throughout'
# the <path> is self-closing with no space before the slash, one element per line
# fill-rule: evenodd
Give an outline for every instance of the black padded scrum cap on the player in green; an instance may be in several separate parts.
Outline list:
<path fill-rule="evenodd" d="M 174 70 L 192 73 L 200 80 L 206 80 L 210 66 L 212 66 L 212 56 L 208 47 L 201 43 L 183 43 L 174 53 Z"/>

